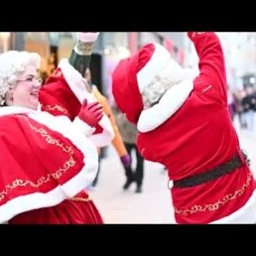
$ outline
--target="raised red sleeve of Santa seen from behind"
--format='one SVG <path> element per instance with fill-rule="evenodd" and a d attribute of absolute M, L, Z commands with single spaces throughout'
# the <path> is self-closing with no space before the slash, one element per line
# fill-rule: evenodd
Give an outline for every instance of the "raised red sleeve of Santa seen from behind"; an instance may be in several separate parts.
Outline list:
<path fill-rule="evenodd" d="M 189 32 L 188 36 L 199 59 L 199 76 L 194 85 L 211 85 L 226 101 L 226 67 L 219 38 L 213 32 Z"/>

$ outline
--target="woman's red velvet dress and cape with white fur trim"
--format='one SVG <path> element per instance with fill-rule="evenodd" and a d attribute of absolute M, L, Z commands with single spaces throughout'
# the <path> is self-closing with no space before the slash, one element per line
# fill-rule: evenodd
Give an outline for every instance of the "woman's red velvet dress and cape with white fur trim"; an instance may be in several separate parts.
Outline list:
<path fill-rule="evenodd" d="M 74 87 L 59 68 L 41 89 L 43 111 L 0 108 L 0 223 L 103 223 L 84 188 L 97 172 L 95 146 L 111 143 L 112 126 L 102 118 L 89 138 L 83 134 L 88 126 L 77 129 L 72 121 L 81 100 L 73 90 L 84 82 L 69 64 L 64 69 L 76 77 Z M 78 90 L 83 98 L 84 90 Z"/>

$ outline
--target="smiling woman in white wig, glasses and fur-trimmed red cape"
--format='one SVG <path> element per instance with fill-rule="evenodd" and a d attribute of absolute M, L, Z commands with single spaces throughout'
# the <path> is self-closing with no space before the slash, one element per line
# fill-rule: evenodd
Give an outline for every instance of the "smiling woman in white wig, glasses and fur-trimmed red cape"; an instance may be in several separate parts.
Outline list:
<path fill-rule="evenodd" d="M 89 55 L 97 34 L 77 33 L 74 48 L 85 46 Z M 108 145 L 113 130 L 68 61 L 41 86 L 38 54 L 0 55 L 1 223 L 103 223 L 84 187 L 98 168 L 95 141 Z"/>

